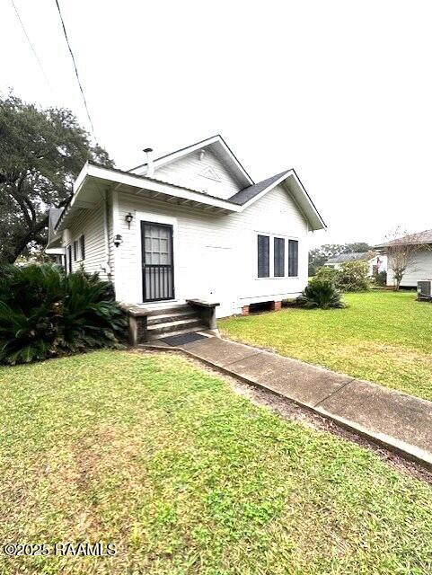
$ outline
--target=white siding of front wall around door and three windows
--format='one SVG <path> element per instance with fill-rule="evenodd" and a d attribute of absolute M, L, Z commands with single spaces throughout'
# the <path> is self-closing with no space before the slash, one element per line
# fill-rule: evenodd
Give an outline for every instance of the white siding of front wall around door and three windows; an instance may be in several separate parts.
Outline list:
<path fill-rule="evenodd" d="M 128 212 L 134 215 L 130 229 L 125 220 Z M 307 224 L 281 186 L 241 214 L 229 215 L 119 193 L 118 226 L 123 243 L 116 248 L 119 270 L 115 270 L 115 278 L 117 297 L 122 301 L 142 302 L 140 217 L 174 226 L 176 300 L 211 297 L 221 303 L 219 317 L 239 313 L 242 305 L 252 302 L 295 296 L 307 283 Z M 258 233 L 299 241 L 297 278 L 257 278 Z M 286 274 L 287 252 L 286 242 Z"/>

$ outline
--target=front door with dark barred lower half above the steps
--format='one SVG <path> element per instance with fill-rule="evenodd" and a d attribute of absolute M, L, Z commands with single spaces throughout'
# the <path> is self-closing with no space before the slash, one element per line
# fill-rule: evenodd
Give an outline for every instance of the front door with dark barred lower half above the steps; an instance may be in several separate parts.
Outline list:
<path fill-rule="evenodd" d="M 143 300 L 174 298 L 172 226 L 141 222 Z"/>

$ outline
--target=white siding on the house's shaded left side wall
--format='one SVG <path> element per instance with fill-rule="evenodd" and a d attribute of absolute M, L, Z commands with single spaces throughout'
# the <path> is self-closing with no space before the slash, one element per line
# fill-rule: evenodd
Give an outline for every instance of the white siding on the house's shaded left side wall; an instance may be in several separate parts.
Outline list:
<path fill-rule="evenodd" d="M 103 226 L 103 204 L 94 209 L 83 209 L 74 218 L 72 225 L 63 235 L 63 245 L 72 244 L 72 270 L 81 267 L 93 273 L 97 271 L 101 279 L 107 279 L 107 256 L 105 251 L 105 237 Z M 74 260 L 74 241 L 84 234 L 85 258 L 84 261 Z"/>

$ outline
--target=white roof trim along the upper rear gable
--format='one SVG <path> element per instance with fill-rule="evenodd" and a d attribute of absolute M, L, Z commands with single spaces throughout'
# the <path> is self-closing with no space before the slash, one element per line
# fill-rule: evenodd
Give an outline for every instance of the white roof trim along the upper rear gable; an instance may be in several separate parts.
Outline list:
<path fill-rule="evenodd" d="M 253 184 L 251 176 L 243 168 L 236 155 L 234 155 L 233 150 L 226 144 L 225 139 L 220 134 L 216 134 L 216 136 L 212 137 L 207 137 L 205 140 L 201 140 L 195 144 L 191 144 L 190 146 L 182 147 L 178 150 L 175 150 L 174 152 L 171 152 L 170 154 L 161 155 L 154 160 L 154 169 L 160 168 L 166 164 L 171 164 L 184 155 L 192 154 L 193 152 L 203 148 L 209 148 L 215 153 L 216 156 L 220 157 L 225 161 L 225 163 L 229 164 L 242 185 L 250 186 Z M 141 175 L 145 175 L 147 166 L 148 163 L 145 162 L 144 164 L 137 165 L 135 168 L 128 170 L 128 172 L 136 173 L 137 170 L 143 168 L 144 173 Z"/>

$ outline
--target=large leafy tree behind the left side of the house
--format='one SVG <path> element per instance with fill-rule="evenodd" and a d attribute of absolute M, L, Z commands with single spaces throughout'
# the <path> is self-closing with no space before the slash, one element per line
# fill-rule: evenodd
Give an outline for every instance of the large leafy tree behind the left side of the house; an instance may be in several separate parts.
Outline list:
<path fill-rule="evenodd" d="M 71 111 L 0 96 L 0 263 L 46 245 L 48 207 L 66 205 L 87 160 L 113 165 Z"/>

